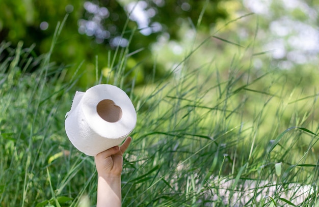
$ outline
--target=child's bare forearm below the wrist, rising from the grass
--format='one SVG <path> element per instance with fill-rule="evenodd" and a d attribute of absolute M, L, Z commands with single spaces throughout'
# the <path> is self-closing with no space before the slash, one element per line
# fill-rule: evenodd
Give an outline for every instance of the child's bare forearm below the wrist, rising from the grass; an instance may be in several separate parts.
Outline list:
<path fill-rule="evenodd" d="M 97 207 L 122 206 L 121 176 L 98 176 Z"/>

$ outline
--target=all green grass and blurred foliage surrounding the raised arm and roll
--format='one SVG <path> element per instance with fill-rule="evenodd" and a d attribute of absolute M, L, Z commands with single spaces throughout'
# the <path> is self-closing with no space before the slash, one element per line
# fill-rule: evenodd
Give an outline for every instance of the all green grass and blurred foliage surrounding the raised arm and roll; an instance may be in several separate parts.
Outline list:
<path fill-rule="evenodd" d="M 317 3 L 143 2 L 146 27 L 125 1 L 0 3 L 0 205 L 94 206 L 64 115 L 110 83 L 138 113 L 123 206 L 318 206 Z M 90 7 L 109 39 L 81 30 Z"/>

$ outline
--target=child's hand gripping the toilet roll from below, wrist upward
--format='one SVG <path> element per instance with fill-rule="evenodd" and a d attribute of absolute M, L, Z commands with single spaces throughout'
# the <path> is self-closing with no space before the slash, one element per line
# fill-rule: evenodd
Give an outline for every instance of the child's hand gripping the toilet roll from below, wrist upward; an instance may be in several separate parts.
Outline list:
<path fill-rule="evenodd" d="M 131 137 L 127 137 L 121 146 L 114 146 L 94 157 L 97 173 L 102 177 L 120 176 L 123 169 L 123 154 L 126 151 Z"/>

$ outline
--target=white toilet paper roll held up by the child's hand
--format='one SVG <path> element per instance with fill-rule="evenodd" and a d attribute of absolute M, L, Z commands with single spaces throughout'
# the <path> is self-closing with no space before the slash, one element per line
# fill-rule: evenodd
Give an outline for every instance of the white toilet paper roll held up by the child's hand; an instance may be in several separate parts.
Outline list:
<path fill-rule="evenodd" d="M 77 150 L 95 156 L 120 144 L 135 128 L 136 119 L 134 105 L 124 91 L 99 84 L 75 93 L 65 131 Z"/>

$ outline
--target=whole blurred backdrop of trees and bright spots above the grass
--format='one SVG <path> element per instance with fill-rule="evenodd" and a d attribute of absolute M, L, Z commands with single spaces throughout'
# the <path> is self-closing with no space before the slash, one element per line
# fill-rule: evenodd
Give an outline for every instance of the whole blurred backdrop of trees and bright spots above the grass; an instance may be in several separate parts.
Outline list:
<path fill-rule="evenodd" d="M 68 68 L 67 76 L 83 62 L 77 83 L 83 87 L 94 83 L 95 67 L 107 76 L 116 50 L 128 49 L 125 70 L 134 70 L 127 78 L 135 77 L 139 85 L 167 74 L 187 54 L 185 45 L 194 44 L 195 37 L 201 42 L 215 35 L 238 45 L 255 44 L 255 51 L 267 51 L 267 58 L 281 70 L 318 64 L 319 1 L 1 0 L 0 8 L 0 42 L 16 48 L 23 41 L 23 48 L 33 48 L 33 56 L 49 51 L 57 24 L 66 17 L 51 61 Z M 254 37 L 262 41 L 255 43 Z M 218 38 L 209 43 L 192 65 L 230 52 Z M 3 51 L 0 60 L 7 53 Z M 264 67 L 262 58 L 254 59 L 255 68 Z M 220 67 L 227 66 L 221 63 Z M 37 68 L 33 64 L 28 70 Z"/>

